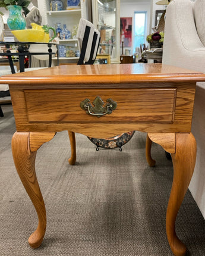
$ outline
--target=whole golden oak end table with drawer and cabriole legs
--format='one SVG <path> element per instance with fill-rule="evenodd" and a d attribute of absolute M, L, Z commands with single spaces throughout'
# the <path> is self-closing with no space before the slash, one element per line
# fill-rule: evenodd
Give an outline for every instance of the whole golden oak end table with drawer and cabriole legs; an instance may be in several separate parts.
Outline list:
<path fill-rule="evenodd" d="M 150 166 L 152 141 L 172 154 L 174 179 L 166 233 L 172 252 L 185 255 L 186 247 L 175 233 L 175 220 L 194 171 L 196 143 L 191 119 L 198 81 L 205 81 L 205 74 L 162 64 L 61 65 L 1 77 L 1 83 L 10 85 L 17 128 L 12 137 L 15 167 L 39 217 L 30 246 L 39 247 L 46 230 L 45 204 L 35 172 L 37 149 L 62 130 L 69 130 L 74 152 L 75 132 L 108 138 L 139 130 L 148 133 Z M 85 107 L 87 99 L 93 107 L 96 96 L 108 101 L 108 114 Z M 117 104 L 112 111 L 110 99 Z M 97 117 L 99 114 L 102 116 Z"/>

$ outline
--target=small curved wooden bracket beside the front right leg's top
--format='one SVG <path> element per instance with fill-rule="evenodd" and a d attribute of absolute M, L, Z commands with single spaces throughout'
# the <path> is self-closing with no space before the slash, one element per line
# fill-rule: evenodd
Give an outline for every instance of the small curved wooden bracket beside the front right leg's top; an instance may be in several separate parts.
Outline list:
<path fill-rule="evenodd" d="M 175 133 L 148 133 L 147 135 L 151 141 L 161 145 L 165 151 L 175 153 Z"/>

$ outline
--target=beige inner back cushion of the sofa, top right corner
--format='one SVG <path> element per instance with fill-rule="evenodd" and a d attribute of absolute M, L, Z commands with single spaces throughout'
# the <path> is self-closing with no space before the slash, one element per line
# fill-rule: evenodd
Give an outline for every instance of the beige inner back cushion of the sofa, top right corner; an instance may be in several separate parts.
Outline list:
<path fill-rule="evenodd" d="M 205 0 L 196 0 L 194 2 L 194 18 L 198 37 L 205 46 Z"/>

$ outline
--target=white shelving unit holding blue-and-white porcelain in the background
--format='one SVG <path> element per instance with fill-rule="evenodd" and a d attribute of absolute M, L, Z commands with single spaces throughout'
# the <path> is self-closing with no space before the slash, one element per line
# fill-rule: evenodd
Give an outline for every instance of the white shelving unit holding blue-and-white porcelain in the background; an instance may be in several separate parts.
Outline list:
<path fill-rule="evenodd" d="M 67 1 L 64 0 L 64 9 L 62 11 L 51 11 L 51 0 L 38 0 L 40 13 L 42 15 L 42 24 L 48 24 L 49 26 L 57 28 L 57 23 L 61 23 L 61 29 L 63 24 L 66 24 L 67 29 L 72 30 L 78 25 L 80 18 L 87 18 L 87 0 L 80 1 L 80 8 L 76 10 L 66 10 Z M 79 45 L 77 39 L 60 39 L 59 44 L 67 46 L 72 51 L 79 51 Z M 53 64 L 57 58 L 53 58 Z M 59 63 L 77 63 L 78 57 L 59 57 Z"/>

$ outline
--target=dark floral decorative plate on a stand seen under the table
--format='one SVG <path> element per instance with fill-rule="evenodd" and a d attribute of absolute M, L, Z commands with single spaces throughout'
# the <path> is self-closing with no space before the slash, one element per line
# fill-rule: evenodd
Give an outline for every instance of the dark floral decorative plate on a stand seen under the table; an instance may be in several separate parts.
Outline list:
<path fill-rule="evenodd" d="M 98 148 L 106 148 L 106 149 L 113 149 L 113 148 L 120 148 L 121 146 L 125 145 L 130 139 L 133 137 L 135 131 L 127 132 L 127 133 L 121 133 L 120 135 L 117 135 L 112 138 L 106 138 L 106 139 L 96 139 L 92 137 L 87 137 L 91 142 L 94 143 L 94 145 Z"/>

